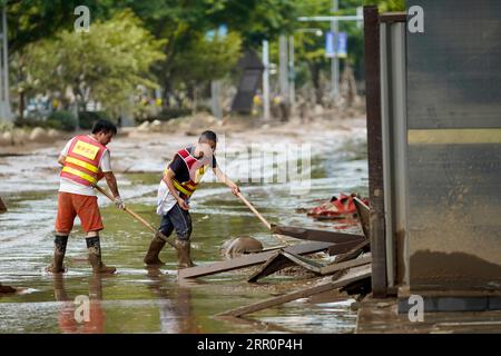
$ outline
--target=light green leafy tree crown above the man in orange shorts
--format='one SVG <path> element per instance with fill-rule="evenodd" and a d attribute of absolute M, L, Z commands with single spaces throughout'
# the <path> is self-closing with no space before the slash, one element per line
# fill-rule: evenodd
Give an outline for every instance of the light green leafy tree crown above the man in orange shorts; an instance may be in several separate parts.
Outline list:
<path fill-rule="evenodd" d="M 78 109 L 90 99 L 110 113 L 129 106 L 138 85 L 154 88 L 154 62 L 165 59 L 164 40 L 156 40 L 129 10 L 90 31 L 63 31 L 55 39 L 29 44 L 23 55 L 32 89 L 65 92 L 71 88 Z"/>

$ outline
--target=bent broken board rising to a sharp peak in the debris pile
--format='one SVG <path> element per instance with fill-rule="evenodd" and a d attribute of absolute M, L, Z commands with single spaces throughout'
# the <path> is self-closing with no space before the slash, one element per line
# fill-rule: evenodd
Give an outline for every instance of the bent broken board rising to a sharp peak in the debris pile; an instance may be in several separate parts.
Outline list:
<path fill-rule="evenodd" d="M 340 270 L 345 270 L 353 267 L 358 267 L 363 265 L 367 265 L 371 263 L 371 256 L 356 258 L 353 260 L 342 261 L 342 263 L 333 263 L 330 265 L 323 265 L 315 260 L 301 257 L 298 255 L 289 254 L 286 251 L 278 251 L 274 256 L 272 256 L 266 264 L 263 265 L 259 270 L 254 273 L 247 281 L 255 283 L 261 278 L 264 278 L 266 276 L 269 276 L 281 269 L 284 269 L 286 267 L 291 266 L 301 266 L 314 274 L 317 275 L 332 275 Z"/>

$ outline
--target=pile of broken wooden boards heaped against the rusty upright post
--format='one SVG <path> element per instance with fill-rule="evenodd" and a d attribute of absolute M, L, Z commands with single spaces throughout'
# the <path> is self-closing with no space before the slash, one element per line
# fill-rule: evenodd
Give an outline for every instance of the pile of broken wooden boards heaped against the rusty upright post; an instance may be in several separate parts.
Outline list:
<path fill-rule="evenodd" d="M 353 197 L 353 201 L 365 236 L 272 225 L 272 231 L 274 234 L 310 240 L 310 243 L 294 246 L 278 246 L 272 249 L 263 249 L 262 246 L 255 246 L 258 250 L 257 253 L 234 257 L 210 265 L 180 269 L 178 275 L 179 279 L 197 278 L 252 266 L 258 266 L 258 268 L 248 276 L 248 283 L 258 283 L 261 278 L 285 268 L 291 268 L 292 266 L 303 268 L 316 276 L 316 279 L 313 281 L 313 287 L 308 286 L 307 288 L 217 315 L 222 317 L 242 317 L 246 314 L 333 289 L 346 291 L 348 295 L 358 295 L 358 299 L 361 299 L 371 293 L 371 253 L 369 235 L 366 235 L 366 231 L 369 231 L 366 229 L 369 226 L 369 207 L 357 197 Z M 237 239 L 232 240 L 227 247 L 230 247 L 235 241 Z M 320 251 L 328 251 L 330 256 L 334 256 L 333 261 L 322 264 L 318 260 L 304 257 L 305 255 Z M 325 281 L 325 277 L 328 277 L 327 281 Z"/>

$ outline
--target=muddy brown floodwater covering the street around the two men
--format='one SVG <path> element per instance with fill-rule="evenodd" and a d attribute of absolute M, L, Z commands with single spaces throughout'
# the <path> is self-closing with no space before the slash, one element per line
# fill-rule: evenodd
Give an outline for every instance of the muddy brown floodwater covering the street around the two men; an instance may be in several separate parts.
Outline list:
<path fill-rule="evenodd" d="M 266 176 L 277 165 L 259 166 L 259 155 L 229 155 L 256 144 L 311 145 L 311 187 L 293 195 L 294 181 L 240 184 L 243 194 L 272 222 L 311 228 L 334 228 L 332 221 L 315 221 L 296 209 L 312 207 L 317 199 L 338 192 L 367 195 L 365 129 L 355 127 L 303 136 L 225 137 L 217 157 L 232 178 L 242 178 L 242 167 L 250 160 Z M 276 138 L 278 137 L 278 139 Z M 183 142 L 195 137 L 122 136 L 112 144 L 111 162 L 121 196 L 129 208 L 159 225 L 155 214 L 156 189 L 166 160 Z M 52 276 L 45 267 L 52 256 L 52 230 L 57 210 L 57 155 L 65 141 L 24 156 L 0 157 L 0 196 L 8 214 L 0 215 L 0 281 L 22 288 L 0 297 L 0 333 L 352 333 L 353 301 L 333 293 L 299 299 L 255 313 L 245 319 L 220 319 L 216 314 L 276 296 L 311 283 L 306 277 L 272 275 L 248 284 L 249 270 L 224 273 L 190 281 L 177 279 L 175 251 L 167 245 L 160 254 L 166 265 L 146 269 L 143 257 L 151 233 L 124 211 L 99 197 L 105 230 L 101 234 L 104 261 L 117 267 L 117 275 L 92 276 L 87 264 L 84 234 L 77 220 L 68 243 L 68 273 Z M 254 146 L 253 146 L 254 145 Z M 250 150 L 249 150 L 250 151 Z M 219 158 L 220 157 L 220 158 Z M 288 158 L 288 160 L 294 158 Z M 297 159 L 301 160 L 301 159 Z M 266 166 L 267 165 L 267 166 Z M 263 165 L 261 165 L 263 166 Z M 198 265 L 222 260 L 219 248 L 233 236 L 253 236 L 265 247 L 277 241 L 262 222 L 225 186 L 212 177 L 191 201 L 194 222 L 193 259 Z M 272 179 L 273 180 L 273 179 Z M 101 182 L 104 186 L 104 182 Z M 340 225 L 360 233 L 357 225 Z M 293 240 L 293 243 L 302 243 Z M 328 256 L 324 257 L 328 260 Z M 75 299 L 88 297 L 88 323 L 76 320 Z"/>

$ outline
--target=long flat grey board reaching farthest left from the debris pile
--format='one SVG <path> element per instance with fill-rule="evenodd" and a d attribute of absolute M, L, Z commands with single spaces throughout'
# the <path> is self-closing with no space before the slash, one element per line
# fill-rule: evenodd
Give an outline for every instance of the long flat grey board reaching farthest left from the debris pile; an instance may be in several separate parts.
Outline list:
<path fill-rule="evenodd" d="M 310 243 L 310 244 L 301 244 L 295 246 L 289 246 L 284 250 L 296 254 L 296 255 L 307 255 L 320 253 L 328 249 L 333 244 L 330 243 Z M 242 257 L 233 258 L 229 260 L 218 261 L 210 265 L 195 266 L 190 268 L 179 269 L 178 277 L 179 278 L 196 278 L 208 275 L 214 275 L 227 270 L 234 270 L 238 268 L 246 268 L 250 266 L 255 266 L 258 264 L 263 264 L 268 260 L 276 251 L 266 251 L 254 255 L 245 255 Z"/>

